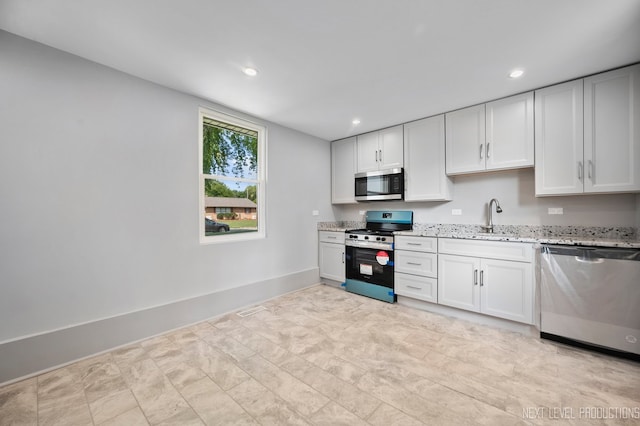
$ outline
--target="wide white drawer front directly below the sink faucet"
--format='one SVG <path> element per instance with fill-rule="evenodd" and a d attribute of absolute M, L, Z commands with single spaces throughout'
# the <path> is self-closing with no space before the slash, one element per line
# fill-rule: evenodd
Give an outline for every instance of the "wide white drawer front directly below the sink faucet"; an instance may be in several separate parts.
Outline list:
<path fill-rule="evenodd" d="M 438 252 L 488 259 L 533 262 L 533 245 L 511 241 L 480 241 L 458 238 L 439 238 Z"/>

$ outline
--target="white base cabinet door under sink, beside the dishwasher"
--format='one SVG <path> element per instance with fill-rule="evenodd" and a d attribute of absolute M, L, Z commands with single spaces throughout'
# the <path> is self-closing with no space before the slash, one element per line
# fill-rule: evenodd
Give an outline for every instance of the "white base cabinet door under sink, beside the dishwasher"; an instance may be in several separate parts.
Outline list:
<path fill-rule="evenodd" d="M 482 259 L 480 312 L 533 323 L 533 270 L 530 263 Z"/>

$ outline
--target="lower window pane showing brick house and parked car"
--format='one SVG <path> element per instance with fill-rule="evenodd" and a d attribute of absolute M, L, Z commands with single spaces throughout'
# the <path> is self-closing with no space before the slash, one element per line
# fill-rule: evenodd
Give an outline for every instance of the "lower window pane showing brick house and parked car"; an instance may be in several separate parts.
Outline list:
<path fill-rule="evenodd" d="M 258 230 L 257 185 L 205 179 L 205 236 Z"/>

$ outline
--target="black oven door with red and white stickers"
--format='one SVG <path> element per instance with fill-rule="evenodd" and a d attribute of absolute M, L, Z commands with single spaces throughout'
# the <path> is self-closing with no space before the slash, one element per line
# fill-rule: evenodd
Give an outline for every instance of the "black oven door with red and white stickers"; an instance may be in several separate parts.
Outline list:
<path fill-rule="evenodd" d="M 377 248 L 346 247 L 347 279 L 393 289 L 393 251 Z"/>

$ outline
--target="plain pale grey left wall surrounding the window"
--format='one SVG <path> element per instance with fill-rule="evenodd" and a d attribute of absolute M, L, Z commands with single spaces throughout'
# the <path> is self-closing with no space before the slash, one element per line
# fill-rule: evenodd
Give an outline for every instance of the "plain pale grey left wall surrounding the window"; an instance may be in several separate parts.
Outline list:
<path fill-rule="evenodd" d="M 0 343 L 317 269 L 327 141 L 255 120 L 267 238 L 200 245 L 198 107 L 227 109 L 6 32 L 0 99 Z"/>

